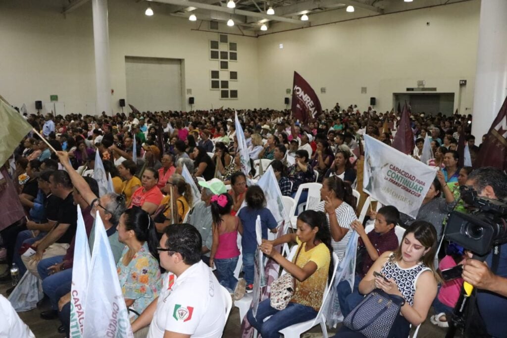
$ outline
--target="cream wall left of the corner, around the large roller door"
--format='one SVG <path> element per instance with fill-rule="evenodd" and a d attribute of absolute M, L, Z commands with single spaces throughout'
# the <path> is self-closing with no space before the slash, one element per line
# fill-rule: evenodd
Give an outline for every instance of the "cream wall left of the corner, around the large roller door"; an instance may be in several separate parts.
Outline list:
<path fill-rule="evenodd" d="M 85 112 L 95 101 L 95 66 L 91 4 L 67 15 L 59 14 L 60 0 L 8 0 L 0 2 L 0 95 L 11 104 L 27 105 L 35 110 L 34 101 L 49 101 L 57 94 L 67 113 Z M 184 60 L 184 86 L 192 89 L 195 109 L 216 107 L 245 108 L 258 103 L 257 39 L 230 35 L 238 43 L 237 100 L 221 100 L 211 91 L 209 71 L 218 69 L 218 61 L 209 59 L 209 40 L 216 32 L 191 30 L 199 25 L 184 18 L 169 16 L 160 6 L 147 17 L 145 2 L 109 0 L 109 33 L 112 107 L 121 111 L 118 100 L 126 97 L 125 56 L 175 58 Z M 207 29 L 207 23 L 203 23 Z M 237 28 L 221 27 L 221 32 L 238 33 Z M 186 91 L 185 93 L 186 94 Z"/>

